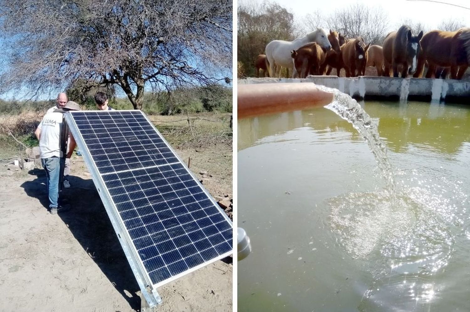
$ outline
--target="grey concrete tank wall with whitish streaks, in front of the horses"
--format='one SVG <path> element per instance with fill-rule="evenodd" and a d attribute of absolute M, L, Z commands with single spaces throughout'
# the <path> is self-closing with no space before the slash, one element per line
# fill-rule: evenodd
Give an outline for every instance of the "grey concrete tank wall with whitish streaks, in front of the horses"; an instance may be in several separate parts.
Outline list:
<path fill-rule="evenodd" d="M 239 84 L 313 82 L 365 100 L 445 101 L 470 103 L 470 81 L 435 78 L 395 78 L 361 76 L 308 76 L 300 78 L 247 78 Z"/>

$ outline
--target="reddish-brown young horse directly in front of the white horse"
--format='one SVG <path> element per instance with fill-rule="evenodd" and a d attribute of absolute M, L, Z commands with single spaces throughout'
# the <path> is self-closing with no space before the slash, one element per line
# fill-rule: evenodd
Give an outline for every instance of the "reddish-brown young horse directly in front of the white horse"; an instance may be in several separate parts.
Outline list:
<path fill-rule="evenodd" d="M 320 66 L 325 62 L 325 53 L 316 42 L 308 43 L 297 50 L 290 51 L 290 56 L 296 73 L 300 73 L 300 78 L 305 78 L 308 74 L 319 75 Z"/>

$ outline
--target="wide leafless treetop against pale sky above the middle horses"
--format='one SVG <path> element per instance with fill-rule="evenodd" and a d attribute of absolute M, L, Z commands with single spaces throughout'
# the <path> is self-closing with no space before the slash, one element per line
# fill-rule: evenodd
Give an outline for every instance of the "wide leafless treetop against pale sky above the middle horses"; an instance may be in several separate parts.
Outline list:
<path fill-rule="evenodd" d="M 362 36 L 367 43 L 381 43 L 387 34 L 388 15 L 382 8 L 356 3 L 336 10 L 327 19 L 331 30 L 341 32 L 346 38 Z"/>

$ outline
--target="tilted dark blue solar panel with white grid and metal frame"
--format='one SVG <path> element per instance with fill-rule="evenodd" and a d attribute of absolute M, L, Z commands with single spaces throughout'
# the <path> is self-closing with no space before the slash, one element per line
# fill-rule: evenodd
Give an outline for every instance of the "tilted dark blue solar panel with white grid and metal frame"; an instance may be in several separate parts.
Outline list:
<path fill-rule="evenodd" d="M 232 253 L 230 219 L 143 112 L 65 115 L 150 306 L 157 287 Z"/>

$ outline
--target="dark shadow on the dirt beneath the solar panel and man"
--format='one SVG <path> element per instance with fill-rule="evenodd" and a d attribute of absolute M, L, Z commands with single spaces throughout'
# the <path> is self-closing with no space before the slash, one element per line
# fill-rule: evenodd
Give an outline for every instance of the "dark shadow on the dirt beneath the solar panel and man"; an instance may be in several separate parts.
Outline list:
<path fill-rule="evenodd" d="M 40 169 L 31 170 L 29 173 L 36 175 L 37 178 L 24 182 L 21 187 L 28 196 L 38 198 L 47 210 L 49 202 L 46 174 Z M 136 295 L 136 292 L 140 288 L 94 187 L 93 180 L 70 176 L 69 181 L 71 188 L 64 189 L 61 196 L 71 204 L 71 211 L 59 213 L 59 217 L 68 225 L 82 248 L 93 258 L 131 308 L 139 311 L 141 298 Z M 126 295 L 125 291 L 132 297 Z"/>

